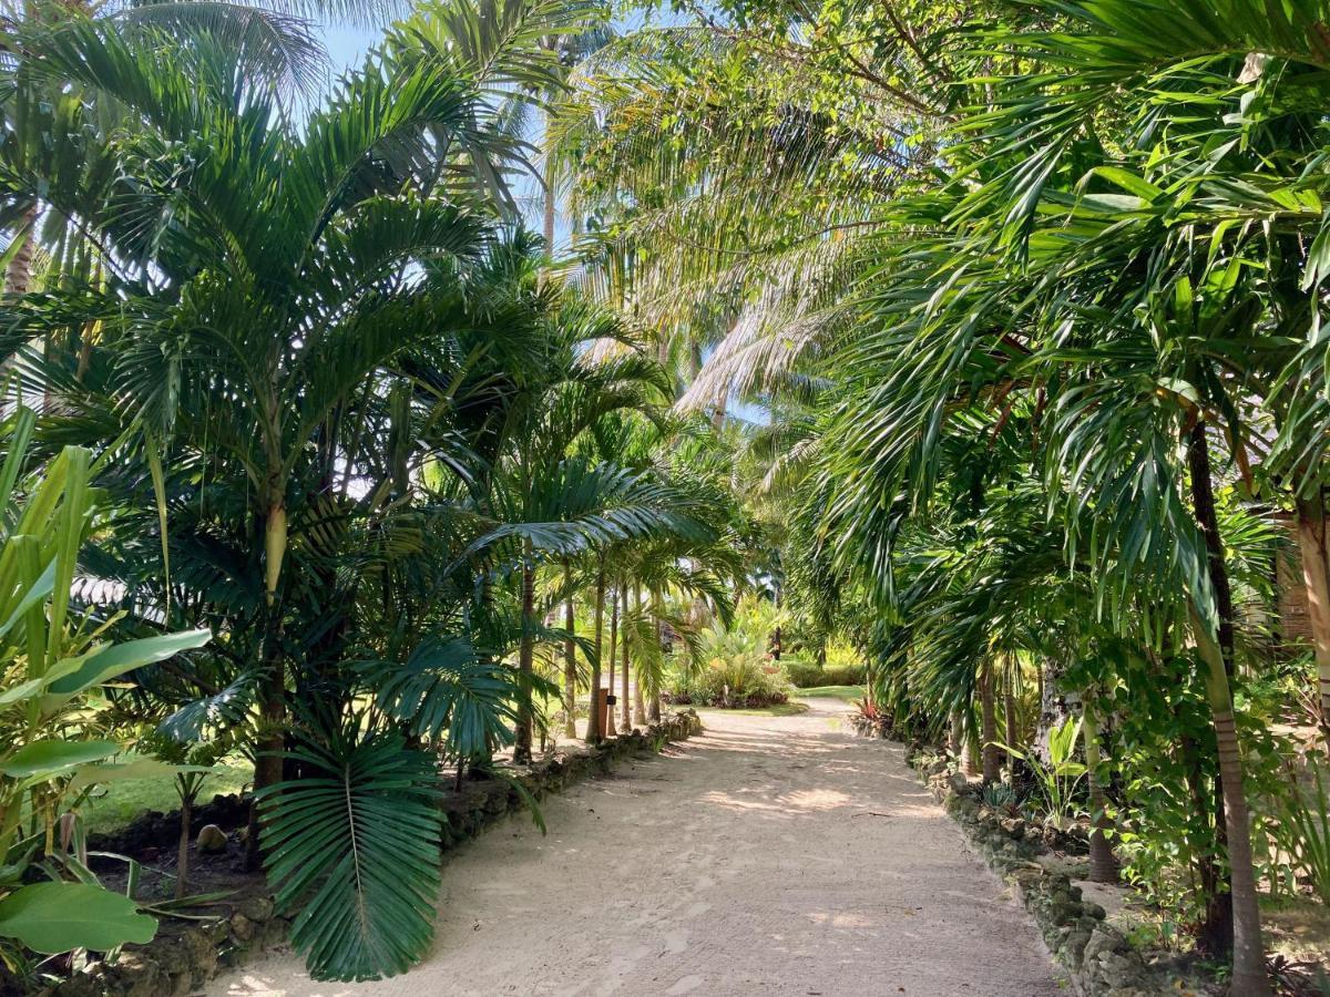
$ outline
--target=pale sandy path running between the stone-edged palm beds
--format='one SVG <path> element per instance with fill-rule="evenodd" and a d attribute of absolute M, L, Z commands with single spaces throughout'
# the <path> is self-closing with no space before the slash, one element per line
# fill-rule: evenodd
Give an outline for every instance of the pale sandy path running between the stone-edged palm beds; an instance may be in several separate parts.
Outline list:
<path fill-rule="evenodd" d="M 259 994 L 1057 994 L 1033 927 L 845 705 L 709 711 L 706 735 L 495 828 L 444 871 L 434 952 L 375 984 L 290 954 L 222 977 Z"/>

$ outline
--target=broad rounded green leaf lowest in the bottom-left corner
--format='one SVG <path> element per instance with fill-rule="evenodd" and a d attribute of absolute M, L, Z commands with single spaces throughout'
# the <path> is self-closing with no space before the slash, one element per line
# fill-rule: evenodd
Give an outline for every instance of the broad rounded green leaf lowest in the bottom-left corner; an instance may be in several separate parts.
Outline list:
<path fill-rule="evenodd" d="M 86 883 L 35 883 L 0 900 L 0 936 L 33 952 L 106 952 L 149 942 L 156 933 L 157 921 L 138 913 L 133 900 Z"/>

